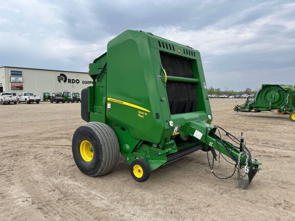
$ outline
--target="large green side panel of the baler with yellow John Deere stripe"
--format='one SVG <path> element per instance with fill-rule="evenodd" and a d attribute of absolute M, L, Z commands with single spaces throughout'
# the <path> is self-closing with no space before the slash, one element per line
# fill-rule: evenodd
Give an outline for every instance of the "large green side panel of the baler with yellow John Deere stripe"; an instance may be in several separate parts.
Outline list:
<path fill-rule="evenodd" d="M 163 119 L 156 119 L 160 98 L 151 59 L 143 32 L 126 31 L 109 42 L 107 118 L 127 128 L 135 139 L 159 143 Z"/>

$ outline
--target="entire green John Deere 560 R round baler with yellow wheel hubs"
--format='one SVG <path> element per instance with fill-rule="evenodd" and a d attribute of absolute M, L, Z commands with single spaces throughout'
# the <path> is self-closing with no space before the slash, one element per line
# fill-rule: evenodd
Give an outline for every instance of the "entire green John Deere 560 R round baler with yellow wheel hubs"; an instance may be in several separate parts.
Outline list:
<path fill-rule="evenodd" d="M 138 182 L 150 171 L 197 150 L 215 149 L 247 168 L 246 188 L 261 164 L 249 150 L 215 134 L 200 53 L 142 31 L 125 31 L 90 64 L 93 86 L 82 90 L 85 125 L 73 136 L 78 168 L 90 176 L 110 172 L 119 152 Z M 213 171 L 213 170 L 212 170 Z"/>

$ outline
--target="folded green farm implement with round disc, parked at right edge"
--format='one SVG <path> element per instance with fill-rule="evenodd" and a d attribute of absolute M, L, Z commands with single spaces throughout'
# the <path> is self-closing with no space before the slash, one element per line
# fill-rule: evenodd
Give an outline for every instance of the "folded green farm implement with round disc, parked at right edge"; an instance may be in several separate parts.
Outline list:
<path fill-rule="evenodd" d="M 277 109 L 278 114 L 289 114 L 295 121 L 295 88 L 292 85 L 262 84 L 254 99 L 236 105 L 234 111 L 261 112 Z"/>

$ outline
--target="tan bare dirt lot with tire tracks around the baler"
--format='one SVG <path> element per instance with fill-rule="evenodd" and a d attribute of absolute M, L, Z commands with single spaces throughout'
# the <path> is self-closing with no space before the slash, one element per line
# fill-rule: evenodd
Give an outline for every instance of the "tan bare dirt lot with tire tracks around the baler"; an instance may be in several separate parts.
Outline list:
<path fill-rule="evenodd" d="M 110 174 L 90 178 L 71 151 L 80 104 L 0 106 L 0 220 L 295 220 L 295 123 L 275 112 L 236 115 L 236 101 L 210 100 L 213 123 L 243 130 L 263 162 L 248 190 L 215 178 L 203 151 L 145 183 L 132 179 L 123 157 Z M 216 173 L 232 171 L 221 161 Z"/>

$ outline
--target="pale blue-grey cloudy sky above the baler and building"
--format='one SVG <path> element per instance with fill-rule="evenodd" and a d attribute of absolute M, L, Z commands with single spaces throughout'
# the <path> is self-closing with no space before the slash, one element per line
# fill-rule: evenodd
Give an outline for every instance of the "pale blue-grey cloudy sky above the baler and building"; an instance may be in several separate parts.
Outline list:
<path fill-rule="evenodd" d="M 199 50 L 208 86 L 295 83 L 294 1 L 0 0 L 0 67 L 88 72 L 127 29 Z"/>

